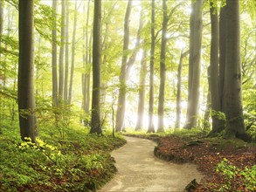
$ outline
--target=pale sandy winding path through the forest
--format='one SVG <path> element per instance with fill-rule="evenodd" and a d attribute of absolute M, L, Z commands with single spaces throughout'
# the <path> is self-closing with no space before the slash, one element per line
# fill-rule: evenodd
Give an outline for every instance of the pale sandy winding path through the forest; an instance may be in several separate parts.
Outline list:
<path fill-rule="evenodd" d="M 126 137 L 128 143 L 112 153 L 118 169 L 114 179 L 100 192 L 108 191 L 183 191 L 193 179 L 204 175 L 193 164 L 162 161 L 153 154 L 154 141 Z"/>

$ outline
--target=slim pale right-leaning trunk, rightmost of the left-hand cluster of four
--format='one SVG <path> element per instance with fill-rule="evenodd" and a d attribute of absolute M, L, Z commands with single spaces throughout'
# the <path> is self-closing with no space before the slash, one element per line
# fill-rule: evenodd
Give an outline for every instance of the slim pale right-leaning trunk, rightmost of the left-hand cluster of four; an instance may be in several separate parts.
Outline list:
<path fill-rule="evenodd" d="M 70 84 L 69 84 L 69 93 L 68 93 L 68 105 L 71 104 L 72 100 L 72 90 L 73 90 L 73 70 L 74 70 L 74 56 L 75 56 L 75 36 L 76 36 L 76 27 L 77 27 L 77 0 L 74 5 L 74 17 L 73 17 L 73 39 L 72 39 L 72 59 L 71 59 L 71 72 L 70 72 Z"/>

